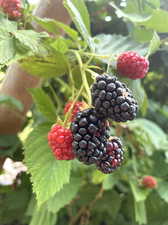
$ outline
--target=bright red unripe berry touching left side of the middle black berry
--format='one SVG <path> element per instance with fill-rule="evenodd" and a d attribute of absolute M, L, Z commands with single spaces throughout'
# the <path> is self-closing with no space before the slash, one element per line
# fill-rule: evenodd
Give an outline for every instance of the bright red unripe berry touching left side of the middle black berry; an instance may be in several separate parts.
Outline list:
<path fill-rule="evenodd" d="M 58 160 L 72 160 L 75 158 L 72 152 L 72 133 L 70 129 L 55 124 L 48 133 L 48 143 Z"/>

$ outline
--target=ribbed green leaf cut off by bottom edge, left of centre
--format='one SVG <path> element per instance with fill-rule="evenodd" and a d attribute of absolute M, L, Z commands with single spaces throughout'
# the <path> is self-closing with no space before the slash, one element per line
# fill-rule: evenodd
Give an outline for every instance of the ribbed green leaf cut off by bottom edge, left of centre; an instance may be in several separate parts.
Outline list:
<path fill-rule="evenodd" d="M 55 225 L 57 221 L 57 214 L 53 214 L 47 210 L 44 205 L 40 209 L 35 207 L 30 221 L 30 225 Z"/>

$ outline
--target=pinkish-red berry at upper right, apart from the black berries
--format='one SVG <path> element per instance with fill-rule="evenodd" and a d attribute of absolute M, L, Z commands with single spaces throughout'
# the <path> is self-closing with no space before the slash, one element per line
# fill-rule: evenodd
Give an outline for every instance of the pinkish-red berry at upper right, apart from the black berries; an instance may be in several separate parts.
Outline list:
<path fill-rule="evenodd" d="M 121 76 L 130 79 L 145 77 L 149 69 L 149 61 L 136 52 L 124 52 L 117 59 L 117 71 Z"/>

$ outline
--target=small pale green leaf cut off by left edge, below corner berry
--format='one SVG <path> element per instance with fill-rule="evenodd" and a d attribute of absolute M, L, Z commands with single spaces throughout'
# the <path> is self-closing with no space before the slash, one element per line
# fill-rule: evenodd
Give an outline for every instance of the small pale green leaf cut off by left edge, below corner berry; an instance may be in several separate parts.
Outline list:
<path fill-rule="evenodd" d="M 4 39 L 0 38 L 0 64 L 5 64 L 11 60 L 15 55 L 14 39 L 6 36 Z"/>

